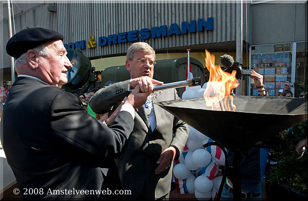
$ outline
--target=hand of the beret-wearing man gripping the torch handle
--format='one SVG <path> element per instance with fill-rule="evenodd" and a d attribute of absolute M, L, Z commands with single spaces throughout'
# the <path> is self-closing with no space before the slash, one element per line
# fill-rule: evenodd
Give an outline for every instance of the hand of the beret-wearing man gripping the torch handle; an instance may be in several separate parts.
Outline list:
<path fill-rule="evenodd" d="M 153 89 L 148 90 L 148 92 L 140 92 L 140 87 L 137 85 L 134 90 L 127 96 L 124 104 L 130 104 L 134 109 L 142 106 L 146 102 L 148 95 L 152 93 Z"/>

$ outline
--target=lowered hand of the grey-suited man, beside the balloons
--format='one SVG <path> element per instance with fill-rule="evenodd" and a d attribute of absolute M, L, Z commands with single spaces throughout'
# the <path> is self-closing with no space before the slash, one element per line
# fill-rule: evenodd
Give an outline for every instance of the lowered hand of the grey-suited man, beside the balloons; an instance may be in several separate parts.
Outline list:
<path fill-rule="evenodd" d="M 176 148 L 172 146 L 165 149 L 161 153 L 161 156 L 159 157 L 158 161 L 156 162 L 157 164 L 159 164 L 159 166 L 156 168 L 155 174 L 160 174 L 163 171 L 167 170 L 175 159 L 176 153 Z"/>

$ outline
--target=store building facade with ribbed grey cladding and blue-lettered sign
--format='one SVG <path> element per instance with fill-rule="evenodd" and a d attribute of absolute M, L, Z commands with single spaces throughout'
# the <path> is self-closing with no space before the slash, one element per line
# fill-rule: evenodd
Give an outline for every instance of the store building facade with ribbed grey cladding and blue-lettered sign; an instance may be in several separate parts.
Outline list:
<path fill-rule="evenodd" d="M 230 54 L 245 68 L 263 74 L 269 94 L 276 95 L 285 81 L 307 83 L 306 11 L 306 1 L 51 3 L 13 19 L 16 32 L 43 27 L 63 33 L 65 47 L 80 48 L 98 74 L 107 67 L 124 65 L 127 48 L 142 41 L 155 49 L 157 60 L 183 57 L 190 49 L 190 56 L 205 66 L 208 50 L 215 55 L 215 64 L 221 65 L 219 56 Z M 3 50 L 9 39 L 8 24 L 4 18 Z M 11 80 L 10 65 L 4 52 L 4 82 Z M 248 77 L 243 77 L 240 87 L 238 94 L 256 94 Z"/>

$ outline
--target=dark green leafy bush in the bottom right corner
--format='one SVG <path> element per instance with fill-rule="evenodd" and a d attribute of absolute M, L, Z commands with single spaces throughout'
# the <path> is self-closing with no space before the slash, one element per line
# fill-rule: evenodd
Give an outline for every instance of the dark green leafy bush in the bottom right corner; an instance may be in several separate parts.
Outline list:
<path fill-rule="evenodd" d="M 297 159 L 299 155 L 295 151 L 297 142 L 307 136 L 307 121 L 305 121 L 291 127 L 284 135 L 285 149 L 271 150 L 271 153 L 276 156 L 277 165 L 272 167 L 269 182 L 285 181 L 301 192 L 308 192 L 308 153 Z"/>

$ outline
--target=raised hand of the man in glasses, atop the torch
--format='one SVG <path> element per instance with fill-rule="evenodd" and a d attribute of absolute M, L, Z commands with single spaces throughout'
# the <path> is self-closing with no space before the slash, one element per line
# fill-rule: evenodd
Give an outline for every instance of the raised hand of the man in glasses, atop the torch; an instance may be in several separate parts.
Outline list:
<path fill-rule="evenodd" d="M 129 88 L 134 89 L 136 86 L 140 87 L 141 92 L 148 93 L 149 91 L 153 91 L 153 85 L 162 85 L 163 82 L 157 81 L 156 79 L 152 79 L 147 76 L 137 77 L 134 79 L 130 79 Z"/>

